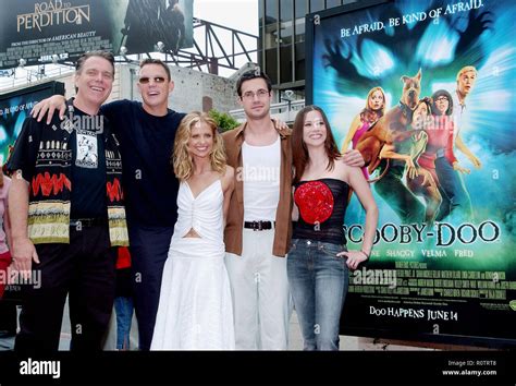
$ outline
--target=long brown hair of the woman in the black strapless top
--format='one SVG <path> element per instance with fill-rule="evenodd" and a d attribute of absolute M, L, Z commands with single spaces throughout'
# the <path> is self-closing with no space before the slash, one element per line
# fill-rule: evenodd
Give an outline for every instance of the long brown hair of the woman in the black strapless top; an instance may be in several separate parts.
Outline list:
<path fill-rule="evenodd" d="M 318 106 L 306 106 L 297 113 L 292 131 L 292 159 L 295 169 L 293 183 L 299 182 L 303 173 L 305 172 L 306 165 L 309 161 L 308 149 L 306 148 L 305 142 L 303 141 L 303 132 L 305 130 L 305 117 L 310 111 L 319 111 L 322 120 L 324 121 L 324 126 L 327 128 L 327 140 L 324 141 L 324 149 L 328 156 L 327 170 L 332 170 L 335 165 L 335 159 L 341 156 L 341 153 L 336 147 L 335 138 L 331 132 L 330 122 L 328 121 L 324 111 L 322 111 L 322 109 Z"/>

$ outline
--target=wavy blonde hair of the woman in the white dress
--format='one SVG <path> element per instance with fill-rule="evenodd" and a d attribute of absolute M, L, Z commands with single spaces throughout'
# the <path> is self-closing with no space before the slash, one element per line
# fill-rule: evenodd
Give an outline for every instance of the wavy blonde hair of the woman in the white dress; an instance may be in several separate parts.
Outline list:
<path fill-rule="evenodd" d="M 192 136 L 192 129 L 199 122 L 208 124 L 213 134 L 213 148 L 210 153 L 211 169 L 218 173 L 225 171 L 224 142 L 222 135 L 220 135 L 217 130 L 216 121 L 206 112 L 193 111 L 183 118 L 175 133 L 172 165 L 174 167 L 175 177 L 177 177 L 180 181 L 187 180 L 194 174 L 194 160 L 188 152 L 188 141 Z"/>

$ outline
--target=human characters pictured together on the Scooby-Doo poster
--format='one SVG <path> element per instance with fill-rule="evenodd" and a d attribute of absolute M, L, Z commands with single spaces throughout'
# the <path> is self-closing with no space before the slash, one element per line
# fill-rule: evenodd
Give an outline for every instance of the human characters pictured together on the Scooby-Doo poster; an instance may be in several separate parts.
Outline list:
<path fill-rule="evenodd" d="M 410 111 L 405 130 L 419 131 L 404 141 L 386 143 L 379 157 L 377 173 L 364 168 L 364 174 L 374 182 L 374 190 L 400 217 L 402 222 L 471 221 L 471 200 L 463 174 L 470 169 L 460 165 L 455 149 L 480 168 L 481 162 L 462 138 L 466 98 L 477 80 L 472 65 L 462 68 L 456 75 L 456 89 L 435 91 L 431 98 L 419 99 Z M 363 135 L 385 114 L 386 100 L 381 87 L 372 88 L 366 107 L 354 118 L 342 144 L 342 150 L 356 148 Z M 389 164 L 388 164 L 389 162 Z M 402 182 L 402 178 L 406 178 Z M 422 202 L 417 197 L 422 197 Z"/>

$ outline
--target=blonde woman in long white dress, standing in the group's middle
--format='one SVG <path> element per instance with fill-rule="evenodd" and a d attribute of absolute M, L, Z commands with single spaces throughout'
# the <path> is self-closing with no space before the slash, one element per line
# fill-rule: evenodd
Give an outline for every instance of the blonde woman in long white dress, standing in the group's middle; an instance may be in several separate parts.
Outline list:
<path fill-rule="evenodd" d="M 161 285 L 151 350 L 233 350 L 235 337 L 223 230 L 234 189 L 223 141 L 206 113 L 187 114 L 175 136 L 177 222 Z"/>

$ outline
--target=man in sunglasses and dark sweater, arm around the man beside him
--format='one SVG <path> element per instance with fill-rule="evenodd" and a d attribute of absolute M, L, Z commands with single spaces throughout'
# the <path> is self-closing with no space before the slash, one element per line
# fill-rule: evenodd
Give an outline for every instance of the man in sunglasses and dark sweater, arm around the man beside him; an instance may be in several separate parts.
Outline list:
<path fill-rule="evenodd" d="M 131 241 L 135 312 L 139 348 L 148 350 L 158 312 L 161 275 L 177 218 L 179 181 L 170 160 L 175 131 L 184 113 L 168 108 L 174 88 L 170 70 L 157 59 L 140 63 L 137 86 L 139 101 L 118 100 L 103 105 L 120 140 L 123 159 L 124 192 Z M 34 117 L 42 119 L 47 109 L 64 113 L 62 96 L 36 105 Z"/>

